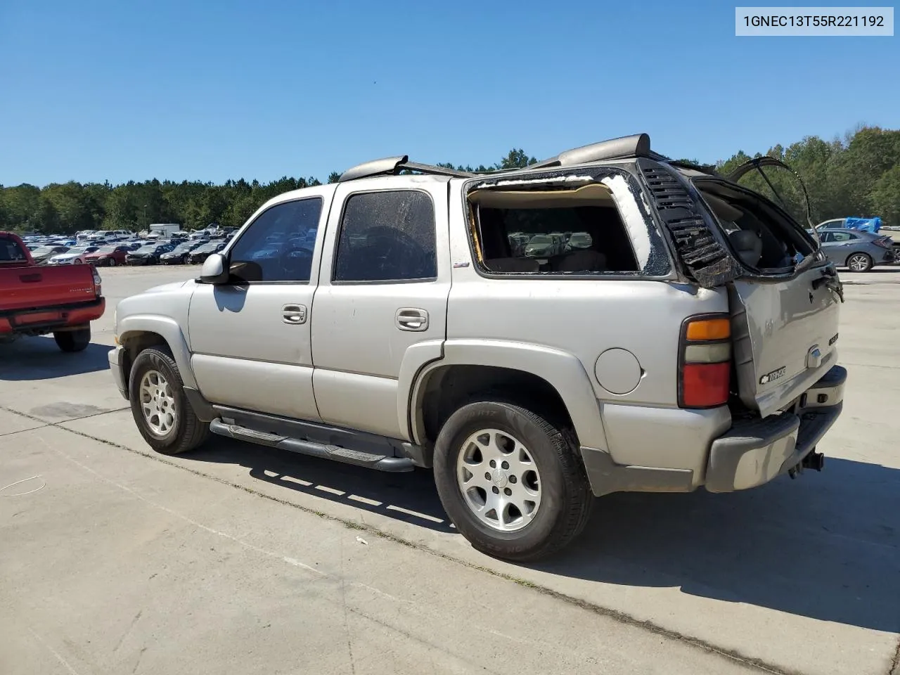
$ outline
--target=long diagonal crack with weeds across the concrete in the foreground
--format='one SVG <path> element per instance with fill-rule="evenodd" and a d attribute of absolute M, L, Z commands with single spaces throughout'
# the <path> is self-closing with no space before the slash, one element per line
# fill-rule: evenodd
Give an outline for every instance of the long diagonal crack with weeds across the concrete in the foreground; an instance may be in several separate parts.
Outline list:
<path fill-rule="evenodd" d="M 0 410 L 4 410 L 6 412 L 11 412 L 16 415 L 21 415 L 22 417 L 25 417 L 28 419 L 33 419 L 33 420 L 39 421 L 39 422 L 46 421 L 43 419 L 36 418 L 32 415 L 29 415 L 28 413 L 23 413 L 18 410 L 12 410 L 5 406 L 0 406 Z M 128 409 L 123 408 L 121 410 L 128 410 Z M 95 413 L 94 415 L 87 415 L 87 416 L 85 416 L 85 418 L 97 417 L 99 415 L 105 415 L 110 412 L 121 412 L 121 410 L 107 410 L 103 413 Z M 79 418 L 79 419 L 84 419 L 84 418 Z M 124 450 L 124 451 L 132 453 L 134 455 L 140 455 L 147 459 L 153 460 L 154 462 L 158 462 L 160 464 L 167 464 L 167 465 L 172 466 L 175 469 L 178 469 L 180 471 L 185 471 L 187 473 L 193 473 L 196 476 L 200 476 L 202 478 L 205 478 L 205 479 L 208 479 L 211 481 L 219 482 L 222 485 L 228 485 L 229 487 L 235 488 L 240 491 L 247 492 L 249 494 L 260 497 L 264 500 L 275 501 L 276 503 L 283 504 L 284 506 L 291 507 L 293 509 L 298 509 L 305 513 L 310 513 L 312 515 L 318 516 L 319 518 L 324 518 L 326 520 L 331 520 L 333 522 L 341 523 L 345 527 L 348 527 L 351 529 L 365 530 L 366 532 L 369 532 L 372 536 L 378 536 L 383 539 L 387 539 L 389 541 L 395 542 L 397 544 L 407 546 L 408 548 L 415 549 L 417 551 L 421 551 L 422 553 L 425 553 L 428 555 L 434 555 L 437 558 L 442 558 L 451 563 L 460 564 L 460 565 L 463 565 L 464 567 L 468 567 L 470 569 L 477 570 L 479 572 L 485 572 L 485 573 L 490 574 L 491 576 L 497 577 L 499 579 L 503 579 L 506 581 L 513 581 L 515 583 L 518 583 L 518 585 L 520 585 L 520 586 L 524 586 L 526 588 L 536 590 L 537 592 L 542 593 L 545 596 L 549 596 L 551 598 L 558 599 L 562 602 L 565 602 L 566 604 L 573 605 L 575 607 L 579 607 L 582 609 L 586 609 L 586 610 L 588 610 L 594 614 L 597 614 L 601 617 L 608 617 L 608 618 L 613 619 L 614 621 L 617 621 L 620 624 L 624 624 L 626 626 L 635 626 L 638 628 L 642 628 L 650 633 L 653 633 L 654 635 L 660 635 L 661 637 L 666 637 L 666 638 L 678 641 L 683 644 L 689 644 L 690 646 L 695 647 L 703 652 L 716 654 L 717 656 L 720 656 L 728 661 L 739 663 L 743 666 L 751 667 L 753 669 L 756 669 L 757 671 L 767 672 L 767 673 L 770 673 L 771 675 L 802 675 L 802 673 L 800 673 L 799 671 L 795 671 L 792 669 L 785 669 L 775 663 L 766 662 L 762 659 L 757 659 L 752 656 L 746 656 L 737 651 L 716 646 L 716 644 L 709 643 L 706 640 L 703 640 L 703 639 L 700 639 L 697 637 L 692 637 L 691 635 L 685 635 L 683 633 L 679 633 L 678 631 L 674 631 L 669 628 L 665 628 L 663 626 L 660 626 L 660 625 L 654 623 L 653 621 L 651 621 L 649 619 L 640 619 L 637 617 L 633 617 L 633 616 L 626 614 L 625 612 L 619 611 L 617 609 L 605 608 L 600 605 L 591 603 L 587 600 L 583 600 L 583 599 L 575 598 L 574 596 L 567 595 L 558 590 L 553 590 L 553 589 L 547 588 L 545 586 L 541 586 L 532 581 L 525 581 L 522 579 L 518 579 L 517 577 L 515 577 L 511 574 L 506 574 L 504 572 L 498 572 L 496 570 L 491 570 L 491 568 L 489 568 L 489 567 L 485 567 L 485 566 L 479 565 L 477 563 L 470 563 L 470 562 L 464 561 L 460 558 L 456 558 L 455 556 L 450 555 L 450 554 L 441 553 L 434 549 L 428 548 L 425 545 L 420 545 L 420 544 L 417 544 L 410 540 L 404 539 L 401 536 L 397 536 L 397 535 L 393 535 L 388 532 L 384 532 L 383 530 L 378 529 L 377 527 L 367 525 L 365 523 L 360 524 L 356 520 L 349 520 L 347 518 L 340 518 L 338 516 L 333 516 L 329 513 L 324 513 L 322 511 L 319 511 L 316 509 L 311 509 L 311 508 L 303 506 L 301 504 L 294 503 L 293 501 L 283 500 L 278 497 L 273 497 L 272 495 L 268 495 L 265 492 L 257 491 L 257 490 L 254 490 L 253 488 L 250 488 L 250 487 L 247 487 L 244 485 L 238 485 L 238 483 L 230 482 L 226 479 L 219 478 L 218 476 L 213 476 L 209 473 L 202 473 L 201 471 L 199 471 L 197 469 L 193 469 L 188 466 L 183 466 L 182 464 L 176 464 L 175 462 L 167 459 L 164 455 L 151 455 L 149 453 L 141 452 L 141 451 L 131 448 L 129 446 L 123 446 L 120 443 L 115 443 L 113 441 L 108 441 L 104 438 L 91 436 L 90 434 L 87 434 L 83 431 L 76 431 L 75 429 L 70 429 L 70 428 L 61 426 L 63 424 L 66 424 L 67 422 L 72 422 L 72 421 L 76 421 L 76 420 L 75 419 L 66 419 L 66 420 L 62 420 L 60 422 L 49 422 L 40 428 L 55 427 L 55 428 L 61 429 L 62 431 L 66 431 L 67 433 L 74 434 L 76 436 L 83 437 L 83 438 L 88 438 L 97 443 L 101 443 L 104 446 L 110 446 L 110 447 L 114 447 L 119 450 Z M 34 431 L 35 429 L 26 429 L 26 430 Z M 893 671 L 888 671 L 887 675 L 900 675 L 900 673 L 896 673 L 896 664 L 897 664 L 897 659 L 895 658 L 895 665 L 891 666 Z"/>

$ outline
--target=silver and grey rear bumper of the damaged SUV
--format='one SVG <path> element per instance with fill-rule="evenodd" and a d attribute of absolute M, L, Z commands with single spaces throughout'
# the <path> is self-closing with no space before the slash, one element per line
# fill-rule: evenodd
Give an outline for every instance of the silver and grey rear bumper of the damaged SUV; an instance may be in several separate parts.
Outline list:
<path fill-rule="evenodd" d="M 841 415 L 846 381 L 846 369 L 835 365 L 793 411 L 735 422 L 713 441 L 707 491 L 755 488 L 800 464 Z"/>

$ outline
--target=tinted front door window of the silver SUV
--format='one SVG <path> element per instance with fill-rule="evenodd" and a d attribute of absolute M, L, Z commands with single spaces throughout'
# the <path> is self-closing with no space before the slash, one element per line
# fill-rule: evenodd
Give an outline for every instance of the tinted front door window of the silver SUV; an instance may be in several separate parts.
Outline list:
<path fill-rule="evenodd" d="M 231 249 L 231 274 L 245 282 L 310 281 L 321 212 L 320 197 L 263 211 Z"/>

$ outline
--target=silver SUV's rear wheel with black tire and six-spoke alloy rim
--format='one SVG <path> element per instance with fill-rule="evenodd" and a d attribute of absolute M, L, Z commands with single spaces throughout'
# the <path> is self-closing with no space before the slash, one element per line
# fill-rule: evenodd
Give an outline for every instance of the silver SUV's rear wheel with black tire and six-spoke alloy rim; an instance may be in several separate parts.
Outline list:
<path fill-rule="evenodd" d="M 437 437 L 434 466 L 447 515 L 484 554 L 544 558 L 590 518 L 594 497 L 572 433 L 518 405 L 456 410 Z"/>

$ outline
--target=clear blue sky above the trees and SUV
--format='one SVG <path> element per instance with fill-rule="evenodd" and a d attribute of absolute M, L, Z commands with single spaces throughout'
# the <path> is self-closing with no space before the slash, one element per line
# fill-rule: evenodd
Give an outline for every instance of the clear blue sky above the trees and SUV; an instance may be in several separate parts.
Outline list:
<path fill-rule="evenodd" d="M 324 180 L 638 131 L 712 162 L 900 127 L 897 40 L 737 38 L 722 2 L 0 0 L 0 184 Z"/>

